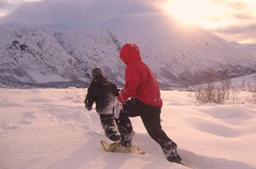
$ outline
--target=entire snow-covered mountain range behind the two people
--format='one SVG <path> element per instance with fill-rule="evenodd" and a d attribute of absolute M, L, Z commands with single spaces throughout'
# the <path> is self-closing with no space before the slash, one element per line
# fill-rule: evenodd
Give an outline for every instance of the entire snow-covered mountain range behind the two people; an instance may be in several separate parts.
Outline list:
<path fill-rule="evenodd" d="M 121 85 L 125 65 L 119 49 L 125 42 L 137 43 L 163 88 L 195 85 L 209 68 L 228 70 L 231 77 L 256 72 L 252 52 L 148 7 L 129 8 L 101 25 L 79 29 L 0 28 L 0 87 L 87 87 L 96 66 Z"/>

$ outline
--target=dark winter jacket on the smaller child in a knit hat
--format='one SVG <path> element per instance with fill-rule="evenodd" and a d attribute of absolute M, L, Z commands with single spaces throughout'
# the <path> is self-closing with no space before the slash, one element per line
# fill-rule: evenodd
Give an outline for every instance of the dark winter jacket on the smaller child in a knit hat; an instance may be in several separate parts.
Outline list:
<path fill-rule="evenodd" d="M 102 75 L 95 76 L 90 82 L 84 104 L 90 110 L 94 102 L 96 111 L 101 114 L 108 114 L 113 108 L 115 97 L 119 95 L 119 89 L 112 82 Z"/>

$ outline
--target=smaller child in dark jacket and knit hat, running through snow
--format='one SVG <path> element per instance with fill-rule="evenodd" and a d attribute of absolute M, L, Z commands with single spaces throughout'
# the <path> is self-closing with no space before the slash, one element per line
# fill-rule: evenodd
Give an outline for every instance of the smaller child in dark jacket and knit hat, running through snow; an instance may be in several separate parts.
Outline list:
<path fill-rule="evenodd" d="M 119 95 L 119 89 L 104 75 L 101 68 L 91 70 L 92 81 L 87 89 L 84 100 L 85 108 L 92 109 L 92 105 L 96 103 L 96 112 L 100 115 L 103 130 L 107 137 L 113 141 L 120 139 L 119 133 L 129 135 L 132 131 L 131 121 L 125 115 L 119 115 L 117 119 L 113 115 L 113 106 L 115 97 Z M 116 124 L 119 133 L 115 130 Z"/>

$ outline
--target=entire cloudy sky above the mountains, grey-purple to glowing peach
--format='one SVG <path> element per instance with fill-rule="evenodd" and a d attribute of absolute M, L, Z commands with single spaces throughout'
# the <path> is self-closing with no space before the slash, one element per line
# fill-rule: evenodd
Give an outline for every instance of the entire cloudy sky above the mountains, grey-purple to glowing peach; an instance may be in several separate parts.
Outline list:
<path fill-rule="evenodd" d="M 101 22 L 134 3 L 150 3 L 184 24 L 200 25 L 229 42 L 256 43 L 256 0 L 1 0 L 0 24 L 76 27 L 81 22 Z"/>

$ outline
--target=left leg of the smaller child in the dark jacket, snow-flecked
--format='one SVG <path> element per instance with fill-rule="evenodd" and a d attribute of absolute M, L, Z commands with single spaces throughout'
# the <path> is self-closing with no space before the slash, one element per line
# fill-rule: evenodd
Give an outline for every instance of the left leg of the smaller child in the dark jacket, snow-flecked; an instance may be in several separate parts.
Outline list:
<path fill-rule="evenodd" d="M 109 139 L 118 141 L 120 139 L 119 133 L 116 131 L 116 125 L 113 121 L 113 115 L 100 115 L 102 127 Z"/>

